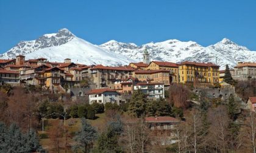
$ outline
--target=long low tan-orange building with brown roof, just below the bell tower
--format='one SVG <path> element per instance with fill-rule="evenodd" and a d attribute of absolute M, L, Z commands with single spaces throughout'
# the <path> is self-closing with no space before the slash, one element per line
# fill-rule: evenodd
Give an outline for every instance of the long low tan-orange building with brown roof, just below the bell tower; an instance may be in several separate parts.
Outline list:
<path fill-rule="evenodd" d="M 153 83 L 163 83 L 169 86 L 171 77 L 169 70 L 135 70 L 133 77 L 138 81 L 150 81 Z"/>

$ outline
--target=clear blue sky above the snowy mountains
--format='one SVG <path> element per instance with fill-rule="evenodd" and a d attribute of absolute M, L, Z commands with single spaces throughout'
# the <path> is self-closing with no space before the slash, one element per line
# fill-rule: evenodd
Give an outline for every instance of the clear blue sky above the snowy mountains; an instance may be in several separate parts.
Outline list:
<path fill-rule="evenodd" d="M 0 1 L 0 53 L 67 28 L 93 44 L 179 39 L 208 46 L 229 38 L 256 50 L 256 1 Z"/>

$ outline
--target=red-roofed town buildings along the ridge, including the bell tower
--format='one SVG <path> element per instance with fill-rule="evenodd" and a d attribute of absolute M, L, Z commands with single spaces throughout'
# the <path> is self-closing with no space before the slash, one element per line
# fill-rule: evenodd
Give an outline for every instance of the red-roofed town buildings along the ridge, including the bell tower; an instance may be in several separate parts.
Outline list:
<path fill-rule="evenodd" d="M 238 80 L 256 78 L 256 63 L 238 63 L 231 72 L 232 77 Z M 143 53 L 143 62 L 116 67 L 101 64 L 86 66 L 73 63 L 69 58 L 63 63 L 46 58 L 25 60 L 23 55 L 12 60 L 0 60 L 1 84 L 32 84 L 52 92 L 65 92 L 64 86 L 79 86 L 80 81 L 89 80 L 90 84 L 94 84 L 93 90 L 88 93 L 91 103 L 105 103 L 110 99 L 118 102 L 116 93 L 132 94 L 138 89 L 149 98 L 165 98 L 165 88 L 172 83 L 196 82 L 200 86 L 214 86 L 222 81 L 223 73 L 213 63 L 150 61 L 147 49 Z M 112 95 L 113 98 L 109 98 Z"/>

